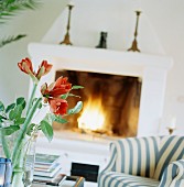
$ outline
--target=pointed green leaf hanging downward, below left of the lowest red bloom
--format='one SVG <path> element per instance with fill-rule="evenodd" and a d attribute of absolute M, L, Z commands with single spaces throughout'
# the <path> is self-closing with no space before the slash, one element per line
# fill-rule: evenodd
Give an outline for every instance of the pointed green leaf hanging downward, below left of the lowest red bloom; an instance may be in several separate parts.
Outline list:
<path fill-rule="evenodd" d="M 41 121 L 41 130 L 45 134 L 46 139 L 51 142 L 52 139 L 53 139 L 53 128 L 52 128 L 52 125 L 47 121 L 42 120 Z"/>

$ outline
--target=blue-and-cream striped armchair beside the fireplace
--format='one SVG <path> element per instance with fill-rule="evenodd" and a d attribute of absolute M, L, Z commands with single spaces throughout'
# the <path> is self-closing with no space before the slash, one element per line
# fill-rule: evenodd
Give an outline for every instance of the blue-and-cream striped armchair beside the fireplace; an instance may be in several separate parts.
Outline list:
<path fill-rule="evenodd" d="M 122 139 L 110 153 L 98 187 L 184 187 L 184 136 Z"/>

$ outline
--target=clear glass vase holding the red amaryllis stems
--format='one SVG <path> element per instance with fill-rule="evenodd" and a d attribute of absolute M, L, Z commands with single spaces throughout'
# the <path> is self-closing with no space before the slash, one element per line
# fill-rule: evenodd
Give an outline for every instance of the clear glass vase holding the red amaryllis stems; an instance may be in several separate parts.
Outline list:
<path fill-rule="evenodd" d="M 17 138 L 18 133 L 6 136 L 6 141 L 11 154 L 13 152 Z M 21 148 L 17 150 L 17 162 L 14 163 L 12 161 L 13 172 L 11 187 L 31 187 L 33 182 L 36 138 L 36 133 L 32 135 L 25 135 L 21 143 Z"/>

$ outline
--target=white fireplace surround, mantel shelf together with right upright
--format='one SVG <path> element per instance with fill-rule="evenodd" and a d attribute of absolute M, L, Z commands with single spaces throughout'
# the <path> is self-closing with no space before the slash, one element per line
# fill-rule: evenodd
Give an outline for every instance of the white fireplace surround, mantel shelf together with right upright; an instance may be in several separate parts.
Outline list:
<path fill-rule="evenodd" d="M 172 58 L 133 52 L 44 43 L 31 43 L 29 53 L 35 65 L 39 65 L 43 59 L 53 64 L 52 72 L 42 79 L 42 82 L 53 81 L 55 72 L 62 69 L 140 77 L 142 90 L 138 136 L 159 133 L 166 74 L 172 67 Z"/>

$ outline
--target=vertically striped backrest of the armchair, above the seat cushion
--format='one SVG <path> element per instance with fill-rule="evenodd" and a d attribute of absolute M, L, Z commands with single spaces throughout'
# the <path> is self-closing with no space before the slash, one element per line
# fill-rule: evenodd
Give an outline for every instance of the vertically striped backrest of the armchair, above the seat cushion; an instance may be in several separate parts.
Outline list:
<path fill-rule="evenodd" d="M 158 136 L 129 138 L 113 142 L 117 158 L 111 170 L 153 178 L 159 142 Z"/>

